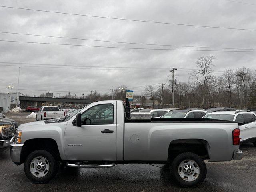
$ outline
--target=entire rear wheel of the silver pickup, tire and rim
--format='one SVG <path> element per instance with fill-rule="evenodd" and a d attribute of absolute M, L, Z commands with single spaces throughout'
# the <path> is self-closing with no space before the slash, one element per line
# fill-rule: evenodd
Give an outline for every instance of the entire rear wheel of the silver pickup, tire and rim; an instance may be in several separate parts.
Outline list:
<path fill-rule="evenodd" d="M 170 172 L 178 184 L 194 188 L 204 181 L 207 170 L 202 158 L 197 154 L 185 152 L 174 158 Z"/>

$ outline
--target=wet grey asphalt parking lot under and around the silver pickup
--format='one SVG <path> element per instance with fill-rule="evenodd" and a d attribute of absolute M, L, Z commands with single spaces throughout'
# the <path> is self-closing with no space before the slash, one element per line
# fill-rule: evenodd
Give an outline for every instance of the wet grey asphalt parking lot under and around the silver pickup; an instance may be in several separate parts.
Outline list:
<path fill-rule="evenodd" d="M 29 113 L 6 114 L 22 124 Z M 34 184 L 24 174 L 23 165 L 16 166 L 9 151 L 0 154 L 0 192 L 23 191 L 104 191 L 104 192 L 255 192 L 256 148 L 252 144 L 240 146 L 244 157 L 240 161 L 206 162 L 206 180 L 198 188 L 180 188 L 170 179 L 168 165 L 116 165 L 108 169 L 67 168 L 60 166 L 56 177 L 48 184 Z"/>

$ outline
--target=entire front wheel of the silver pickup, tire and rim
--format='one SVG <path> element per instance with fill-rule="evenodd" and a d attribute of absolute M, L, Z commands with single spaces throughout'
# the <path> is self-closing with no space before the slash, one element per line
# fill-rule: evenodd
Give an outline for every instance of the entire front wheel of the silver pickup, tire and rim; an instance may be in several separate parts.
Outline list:
<path fill-rule="evenodd" d="M 30 153 L 24 162 L 25 174 L 34 183 L 50 181 L 57 174 L 58 168 L 58 160 L 46 150 Z"/>

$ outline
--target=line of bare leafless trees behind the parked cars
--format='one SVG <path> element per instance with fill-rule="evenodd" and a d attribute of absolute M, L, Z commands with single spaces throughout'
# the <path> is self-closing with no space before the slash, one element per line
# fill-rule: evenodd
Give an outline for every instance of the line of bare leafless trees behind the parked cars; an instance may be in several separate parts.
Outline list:
<path fill-rule="evenodd" d="M 226 68 L 219 76 L 214 74 L 216 68 L 214 56 L 204 56 L 196 60 L 194 70 L 188 74 L 188 82 L 177 81 L 174 85 L 174 104 L 176 108 L 208 108 L 212 106 L 242 107 L 256 106 L 256 70 L 248 67 L 237 69 Z M 160 86 L 160 85 L 159 85 Z M 144 92 L 134 95 L 142 104 L 151 100 L 153 108 L 172 107 L 172 88 L 168 84 L 164 89 L 154 85 L 145 86 Z M 125 100 L 128 86 L 122 85 L 110 93 L 100 94 L 92 91 L 89 94 L 70 95 L 62 98 L 80 98 L 99 100 Z M 40 96 L 44 96 L 41 94 Z M 156 104 L 157 101 L 157 104 Z M 157 106 L 156 106 L 157 105 Z"/>

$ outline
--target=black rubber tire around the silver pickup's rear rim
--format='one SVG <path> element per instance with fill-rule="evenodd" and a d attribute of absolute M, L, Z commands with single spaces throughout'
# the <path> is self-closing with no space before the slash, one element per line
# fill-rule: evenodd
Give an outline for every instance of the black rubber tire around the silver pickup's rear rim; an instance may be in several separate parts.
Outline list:
<path fill-rule="evenodd" d="M 182 168 L 179 168 L 179 165 L 183 161 L 186 162 L 185 160 L 192 160 L 196 162 L 196 164 L 198 165 L 198 168 L 200 169 L 200 173 L 198 175 L 195 175 L 195 178 L 196 178 L 195 180 L 186 181 L 185 179 L 182 178 L 182 176 L 180 176 L 179 172 L 183 172 L 183 170 Z M 194 164 L 192 164 L 192 166 L 194 166 Z M 206 178 L 207 170 L 206 170 L 206 165 L 204 163 L 204 160 L 202 160 L 202 158 L 200 158 L 197 154 L 194 154 L 191 152 L 185 152 L 185 153 L 179 154 L 178 156 L 176 156 L 176 158 L 174 158 L 172 165 L 170 166 L 170 172 L 171 172 L 172 178 L 176 182 L 178 182 L 180 186 L 186 187 L 186 188 L 194 188 L 202 184 L 202 182 L 204 182 L 204 179 Z M 194 170 L 193 170 L 193 173 L 195 174 Z M 190 172 L 188 174 L 193 174 L 193 173 Z M 184 176 L 184 178 L 185 177 L 186 176 Z"/>

